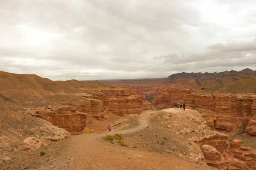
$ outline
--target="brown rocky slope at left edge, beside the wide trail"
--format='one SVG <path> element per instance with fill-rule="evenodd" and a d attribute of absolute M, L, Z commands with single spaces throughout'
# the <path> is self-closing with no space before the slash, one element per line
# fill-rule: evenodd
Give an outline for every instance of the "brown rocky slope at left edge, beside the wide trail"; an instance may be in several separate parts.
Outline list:
<path fill-rule="evenodd" d="M 67 130 L 21 112 L 0 112 L 0 163 L 70 137 Z"/>

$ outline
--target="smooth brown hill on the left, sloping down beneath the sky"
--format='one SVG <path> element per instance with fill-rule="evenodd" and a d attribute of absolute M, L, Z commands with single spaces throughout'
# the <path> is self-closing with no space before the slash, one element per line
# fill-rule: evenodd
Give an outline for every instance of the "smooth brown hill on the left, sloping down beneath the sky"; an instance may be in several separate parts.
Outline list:
<path fill-rule="evenodd" d="M 52 81 L 35 74 L 12 74 L 0 71 L 0 108 L 20 110 L 28 106 L 51 105 L 53 101 L 49 99 L 50 96 L 59 95 L 60 97 L 57 98 L 62 101 L 67 98 L 67 94 L 85 93 L 90 89 L 105 87 L 110 85 L 99 81 Z M 79 98 L 79 96 L 73 97 Z"/>

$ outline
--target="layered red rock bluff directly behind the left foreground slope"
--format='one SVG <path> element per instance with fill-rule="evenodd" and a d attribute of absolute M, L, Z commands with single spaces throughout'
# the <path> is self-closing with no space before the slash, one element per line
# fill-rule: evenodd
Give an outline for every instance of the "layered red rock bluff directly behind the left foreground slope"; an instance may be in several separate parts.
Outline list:
<path fill-rule="evenodd" d="M 31 113 L 31 111 L 29 112 Z M 86 126 L 87 113 L 76 111 L 76 107 L 73 106 L 43 108 L 32 111 L 31 114 L 69 132 L 82 131 Z"/>

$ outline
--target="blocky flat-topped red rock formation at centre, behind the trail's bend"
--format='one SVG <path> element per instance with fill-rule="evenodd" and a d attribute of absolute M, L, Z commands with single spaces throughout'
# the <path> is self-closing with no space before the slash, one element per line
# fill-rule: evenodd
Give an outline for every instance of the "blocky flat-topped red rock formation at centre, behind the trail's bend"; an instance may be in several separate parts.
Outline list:
<path fill-rule="evenodd" d="M 108 110 L 120 115 L 139 114 L 142 110 L 141 99 L 136 97 L 111 98 L 108 100 Z"/>

